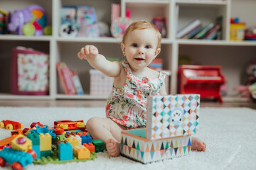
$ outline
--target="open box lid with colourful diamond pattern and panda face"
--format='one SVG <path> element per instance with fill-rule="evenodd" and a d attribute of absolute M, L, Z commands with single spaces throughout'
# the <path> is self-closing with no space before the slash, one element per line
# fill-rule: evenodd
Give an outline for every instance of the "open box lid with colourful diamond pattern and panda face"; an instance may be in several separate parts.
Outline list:
<path fill-rule="evenodd" d="M 199 94 L 149 96 L 146 138 L 190 135 L 198 131 Z"/>

